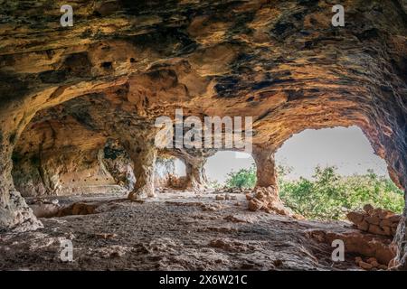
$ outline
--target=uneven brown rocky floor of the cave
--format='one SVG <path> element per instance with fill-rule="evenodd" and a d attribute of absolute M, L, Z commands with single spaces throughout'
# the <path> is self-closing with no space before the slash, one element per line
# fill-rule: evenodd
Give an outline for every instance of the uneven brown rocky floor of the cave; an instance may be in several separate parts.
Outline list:
<path fill-rule="evenodd" d="M 96 203 L 99 212 L 0 234 L 0 270 L 358 270 L 355 256 L 334 263 L 333 248 L 306 234 L 349 224 L 251 212 L 235 195 L 167 192 L 143 203 L 121 194 L 60 197 L 61 204 Z M 72 240 L 72 262 L 60 259 L 64 238 Z"/>

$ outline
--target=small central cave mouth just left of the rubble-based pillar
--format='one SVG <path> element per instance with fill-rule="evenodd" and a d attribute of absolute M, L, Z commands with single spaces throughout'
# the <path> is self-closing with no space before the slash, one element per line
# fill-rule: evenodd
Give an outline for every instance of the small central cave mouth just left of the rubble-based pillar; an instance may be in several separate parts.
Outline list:
<path fill-rule="evenodd" d="M 208 158 L 204 169 L 214 189 L 252 189 L 256 184 L 256 164 L 251 154 L 220 151 Z"/>

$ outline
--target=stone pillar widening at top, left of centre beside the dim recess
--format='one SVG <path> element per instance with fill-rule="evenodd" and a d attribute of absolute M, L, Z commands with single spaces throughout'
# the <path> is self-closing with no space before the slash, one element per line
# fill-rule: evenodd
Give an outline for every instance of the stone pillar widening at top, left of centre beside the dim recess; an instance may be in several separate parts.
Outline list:
<path fill-rule="evenodd" d="M 133 191 L 128 194 L 128 199 L 140 199 L 155 197 L 154 166 L 156 164 L 156 146 L 154 142 L 147 141 L 145 144 L 124 143 L 130 159 L 133 161 L 133 170 L 136 184 Z"/>

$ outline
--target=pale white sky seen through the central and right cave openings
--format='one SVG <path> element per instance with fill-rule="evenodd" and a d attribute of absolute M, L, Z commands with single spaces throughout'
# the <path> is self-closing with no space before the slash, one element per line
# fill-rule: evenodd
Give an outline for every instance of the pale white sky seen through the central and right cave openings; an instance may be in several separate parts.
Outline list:
<path fill-rule="evenodd" d="M 320 164 L 336 165 L 344 175 L 364 173 L 368 169 L 388 175 L 386 163 L 374 154 L 373 148 L 356 126 L 305 130 L 293 135 L 276 154 L 277 163 L 292 167 L 289 178 L 310 178 Z M 208 159 L 205 169 L 210 180 L 224 182 L 232 170 L 248 168 L 254 163 L 251 156 L 237 158 L 233 152 L 219 152 Z"/>

